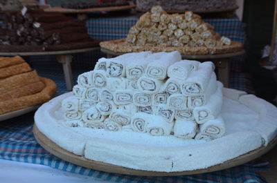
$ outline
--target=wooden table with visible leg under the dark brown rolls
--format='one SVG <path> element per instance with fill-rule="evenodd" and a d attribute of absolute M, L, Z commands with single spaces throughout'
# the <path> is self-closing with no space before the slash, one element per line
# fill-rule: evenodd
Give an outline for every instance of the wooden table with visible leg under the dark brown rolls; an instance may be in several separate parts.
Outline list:
<path fill-rule="evenodd" d="M 55 55 L 58 62 L 62 64 L 64 70 L 64 79 L 66 82 L 66 89 L 72 90 L 73 88 L 73 77 L 71 70 L 71 62 L 73 60 L 73 53 L 88 52 L 97 50 L 98 47 L 93 48 L 82 48 L 78 50 L 63 50 L 63 51 L 44 51 L 44 52 L 0 52 L 1 56 L 35 56 L 35 55 Z"/>

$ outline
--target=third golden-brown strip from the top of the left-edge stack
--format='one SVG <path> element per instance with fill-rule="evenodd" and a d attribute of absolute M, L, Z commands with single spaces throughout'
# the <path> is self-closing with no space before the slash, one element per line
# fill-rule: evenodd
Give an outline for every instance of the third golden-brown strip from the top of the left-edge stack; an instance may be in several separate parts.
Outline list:
<path fill-rule="evenodd" d="M 6 79 L 0 80 L 0 93 L 6 93 L 9 90 L 19 88 L 20 86 L 25 86 L 26 84 L 34 83 L 36 81 L 39 81 L 39 76 L 35 70 L 28 73 L 7 77 Z"/>

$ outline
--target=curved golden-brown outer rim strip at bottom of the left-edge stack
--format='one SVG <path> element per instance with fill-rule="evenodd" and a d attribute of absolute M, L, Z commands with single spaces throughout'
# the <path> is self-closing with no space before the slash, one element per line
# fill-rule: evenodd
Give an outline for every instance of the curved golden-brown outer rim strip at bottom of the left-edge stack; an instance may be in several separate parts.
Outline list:
<path fill-rule="evenodd" d="M 40 79 L 46 86 L 40 93 L 0 102 L 0 114 L 43 104 L 44 102 L 47 102 L 49 99 L 53 98 L 57 90 L 55 82 L 51 79 L 46 79 L 43 77 Z"/>

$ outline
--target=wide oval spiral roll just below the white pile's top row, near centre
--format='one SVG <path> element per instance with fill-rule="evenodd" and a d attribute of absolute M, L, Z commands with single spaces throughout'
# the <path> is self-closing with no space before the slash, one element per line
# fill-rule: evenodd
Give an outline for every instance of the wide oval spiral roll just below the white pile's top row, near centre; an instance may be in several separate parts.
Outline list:
<path fill-rule="evenodd" d="M 138 88 L 142 93 L 147 94 L 154 94 L 159 92 L 159 89 L 161 88 L 161 85 L 163 84 L 163 81 L 149 78 L 149 77 L 141 77 L 138 80 Z"/>

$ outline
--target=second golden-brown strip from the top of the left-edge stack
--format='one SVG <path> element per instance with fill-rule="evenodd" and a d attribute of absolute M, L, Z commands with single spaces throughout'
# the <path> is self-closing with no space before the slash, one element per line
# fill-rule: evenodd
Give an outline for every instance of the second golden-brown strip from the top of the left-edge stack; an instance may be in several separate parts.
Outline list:
<path fill-rule="evenodd" d="M 5 68 L 0 68 L 0 79 L 10 77 L 12 75 L 26 73 L 30 70 L 32 70 L 32 68 L 30 68 L 29 64 L 27 64 L 26 62 L 13 66 L 8 66 Z"/>

